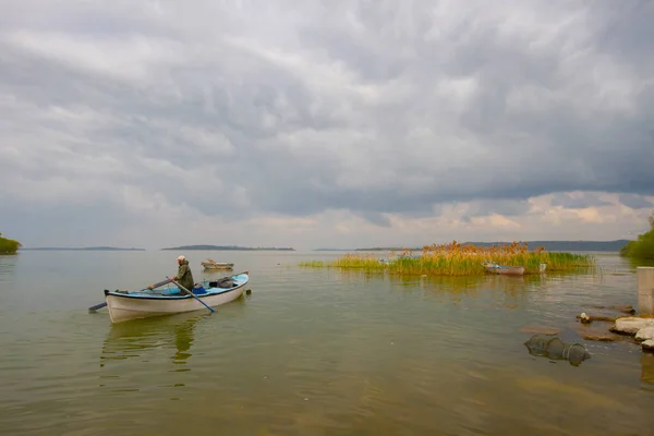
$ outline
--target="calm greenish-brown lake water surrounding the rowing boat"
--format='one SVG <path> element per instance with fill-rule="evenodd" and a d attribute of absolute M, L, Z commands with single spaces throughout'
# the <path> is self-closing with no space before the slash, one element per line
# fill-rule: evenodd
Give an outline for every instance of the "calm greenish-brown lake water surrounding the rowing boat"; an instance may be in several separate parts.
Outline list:
<path fill-rule="evenodd" d="M 0 256 L 0 434 L 654 433 L 654 355 L 577 334 L 589 305 L 637 305 L 615 254 L 602 275 L 429 280 L 296 266 L 339 254 L 185 254 L 196 280 L 205 257 L 250 270 L 252 294 L 112 325 L 87 312 L 101 291 L 159 281 L 178 253 Z M 530 355 L 533 325 L 592 359 Z"/>

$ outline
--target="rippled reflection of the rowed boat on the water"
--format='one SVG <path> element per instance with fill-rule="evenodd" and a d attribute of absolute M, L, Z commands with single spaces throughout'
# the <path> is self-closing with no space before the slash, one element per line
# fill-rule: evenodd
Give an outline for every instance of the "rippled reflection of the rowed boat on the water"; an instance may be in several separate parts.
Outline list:
<path fill-rule="evenodd" d="M 195 327 L 206 315 L 179 314 L 112 324 L 102 344 L 100 367 L 108 361 L 144 358 L 147 351 L 174 347 L 172 363 L 183 365 L 192 356 Z"/>

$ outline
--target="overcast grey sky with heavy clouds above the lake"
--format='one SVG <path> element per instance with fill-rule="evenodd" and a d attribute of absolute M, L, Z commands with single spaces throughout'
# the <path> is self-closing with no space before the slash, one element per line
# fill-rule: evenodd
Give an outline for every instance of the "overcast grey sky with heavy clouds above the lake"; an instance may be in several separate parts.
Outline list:
<path fill-rule="evenodd" d="M 654 2 L 0 0 L 24 246 L 633 239 Z"/>

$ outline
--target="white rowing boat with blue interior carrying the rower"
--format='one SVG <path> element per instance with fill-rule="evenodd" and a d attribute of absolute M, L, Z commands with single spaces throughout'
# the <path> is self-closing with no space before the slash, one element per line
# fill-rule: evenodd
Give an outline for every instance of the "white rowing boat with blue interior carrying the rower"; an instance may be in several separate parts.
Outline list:
<path fill-rule="evenodd" d="M 226 304 L 240 298 L 249 281 L 250 274 L 244 271 L 216 281 L 203 281 L 193 288 L 195 296 L 174 286 L 135 292 L 105 290 L 105 299 L 111 322 L 121 323 L 134 318 L 206 310 L 204 304 L 209 307 Z"/>

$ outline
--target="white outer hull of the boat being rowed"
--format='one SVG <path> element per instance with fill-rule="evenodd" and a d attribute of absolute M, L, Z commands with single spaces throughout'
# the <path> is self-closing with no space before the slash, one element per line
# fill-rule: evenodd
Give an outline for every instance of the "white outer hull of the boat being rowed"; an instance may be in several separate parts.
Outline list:
<path fill-rule="evenodd" d="M 196 296 L 210 307 L 227 304 L 243 295 L 247 281 L 249 278 L 237 287 L 228 289 L 211 288 L 207 293 L 196 294 Z M 143 293 L 131 295 L 107 292 L 106 301 L 112 323 L 207 310 L 201 302 L 187 294 L 164 298 L 160 295 L 147 296 Z"/>

